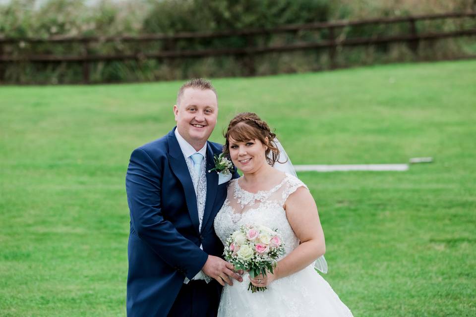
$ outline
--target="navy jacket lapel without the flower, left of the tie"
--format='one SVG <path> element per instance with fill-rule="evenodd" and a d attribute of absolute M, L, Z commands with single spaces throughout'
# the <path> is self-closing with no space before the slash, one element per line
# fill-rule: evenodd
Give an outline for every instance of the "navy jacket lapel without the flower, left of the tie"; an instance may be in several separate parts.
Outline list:
<path fill-rule="evenodd" d="M 172 168 L 172 171 L 174 172 L 175 176 L 177 176 L 180 183 L 182 184 L 183 191 L 185 193 L 185 201 L 188 207 L 188 213 L 190 214 L 190 219 L 192 220 L 192 224 L 195 228 L 195 231 L 197 232 L 197 234 L 200 234 L 200 231 L 198 229 L 200 222 L 198 220 L 197 198 L 195 195 L 195 189 L 193 188 L 192 178 L 190 176 L 190 172 L 188 171 L 187 163 L 185 162 L 185 158 L 183 157 L 182 150 L 180 149 L 179 142 L 175 137 L 174 131 L 175 129 L 168 134 L 168 156 L 170 167 Z"/>

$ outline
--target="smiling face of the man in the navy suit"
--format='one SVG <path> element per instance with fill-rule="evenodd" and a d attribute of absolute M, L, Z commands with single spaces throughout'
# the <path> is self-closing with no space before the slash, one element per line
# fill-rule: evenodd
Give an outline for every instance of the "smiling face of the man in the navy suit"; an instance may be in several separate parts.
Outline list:
<path fill-rule="evenodd" d="M 180 135 L 195 150 L 199 150 L 217 123 L 217 96 L 210 89 L 187 88 L 183 91 L 179 105 L 174 106 L 174 114 Z"/>

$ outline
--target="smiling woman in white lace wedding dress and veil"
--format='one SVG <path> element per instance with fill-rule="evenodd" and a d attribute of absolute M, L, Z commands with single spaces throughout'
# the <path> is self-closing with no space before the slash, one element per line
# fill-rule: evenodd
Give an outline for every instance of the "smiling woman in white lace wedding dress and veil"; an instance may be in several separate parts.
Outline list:
<path fill-rule="evenodd" d="M 326 269 L 319 215 L 306 185 L 278 170 L 286 164 L 278 159 L 276 135 L 256 114 L 245 112 L 230 122 L 225 138 L 224 153 L 243 176 L 230 181 L 227 199 L 215 217 L 218 237 L 225 245 L 240 226 L 260 224 L 278 230 L 286 254 L 273 273 L 255 278 L 248 275 L 251 284 L 267 286 L 267 290 L 251 293 L 246 278 L 242 283 L 225 285 L 218 316 L 352 316 L 314 269 L 316 259 L 316 265 Z M 272 167 L 275 163 L 277 168 Z M 290 162 L 288 166 L 292 166 Z"/>

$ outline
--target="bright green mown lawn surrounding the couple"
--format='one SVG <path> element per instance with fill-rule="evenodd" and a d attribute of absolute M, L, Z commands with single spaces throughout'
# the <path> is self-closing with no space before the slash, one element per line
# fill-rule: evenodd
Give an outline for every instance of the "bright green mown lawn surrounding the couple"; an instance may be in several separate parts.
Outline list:
<path fill-rule="evenodd" d="M 219 122 L 276 128 L 356 317 L 476 316 L 476 61 L 213 81 Z M 0 87 L 0 316 L 125 316 L 130 152 L 174 126 L 180 82 Z M 318 296 L 318 294 L 316 294 Z"/>

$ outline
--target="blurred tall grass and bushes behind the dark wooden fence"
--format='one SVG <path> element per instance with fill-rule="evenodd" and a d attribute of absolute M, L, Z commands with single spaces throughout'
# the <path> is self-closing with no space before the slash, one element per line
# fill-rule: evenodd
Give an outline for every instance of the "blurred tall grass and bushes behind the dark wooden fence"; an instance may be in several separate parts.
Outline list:
<path fill-rule="evenodd" d="M 325 22 L 335 19 L 362 19 L 371 16 L 408 16 L 435 10 L 472 9 L 472 1 L 410 0 L 392 4 L 382 1 L 328 0 L 163 0 L 163 1 L 100 1 L 87 6 L 85 1 L 50 0 L 32 8 L 34 1 L 12 1 L 2 7 L 0 36 L 4 38 L 50 38 L 52 36 L 118 36 L 129 34 L 179 32 L 221 32 L 243 28 L 272 29 L 289 24 Z M 372 3 L 373 2 L 373 3 Z M 423 4 L 422 4 L 423 3 Z M 426 3 L 426 7 L 425 7 Z M 449 3 L 449 4 L 448 4 Z M 370 10 L 370 11 L 369 11 Z M 476 28 L 475 18 L 430 20 L 416 23 L 418 33 L 451 32 Z M 203 58 L 141 58 L 141 54 L 163 51 L 200 51 L 246 49 L 250 47 L 283 46 L 335 38 L 376 38 L 409 34 L 408 23 L 353 25 L 329 30 L 263 34 L 260 36 L 228 36 L 202 39 L 175 39 L 141 43 L 127 41 L 95 41 L 51 44 L 19 41 L 3 44 L 0 55 L 115 55 L 138 54 L 130 60 L 94 61 L 87 65 L 87 81 L 127 82 L 173 80 L 194 76 L 224 77 L 305 72 L 360 64 L 451 59 L 476 54 L 474 37 L 384 43 L 378 45 L 337 48 L 332 58 L 327 49 L 293 52 L 270 52 L 257 56 L 246 54 L 208 56 Z M 29 62 L 20 60 L 0 63 L 3 83 L 77 83 L 84 81 L 82 62 Z"/>

